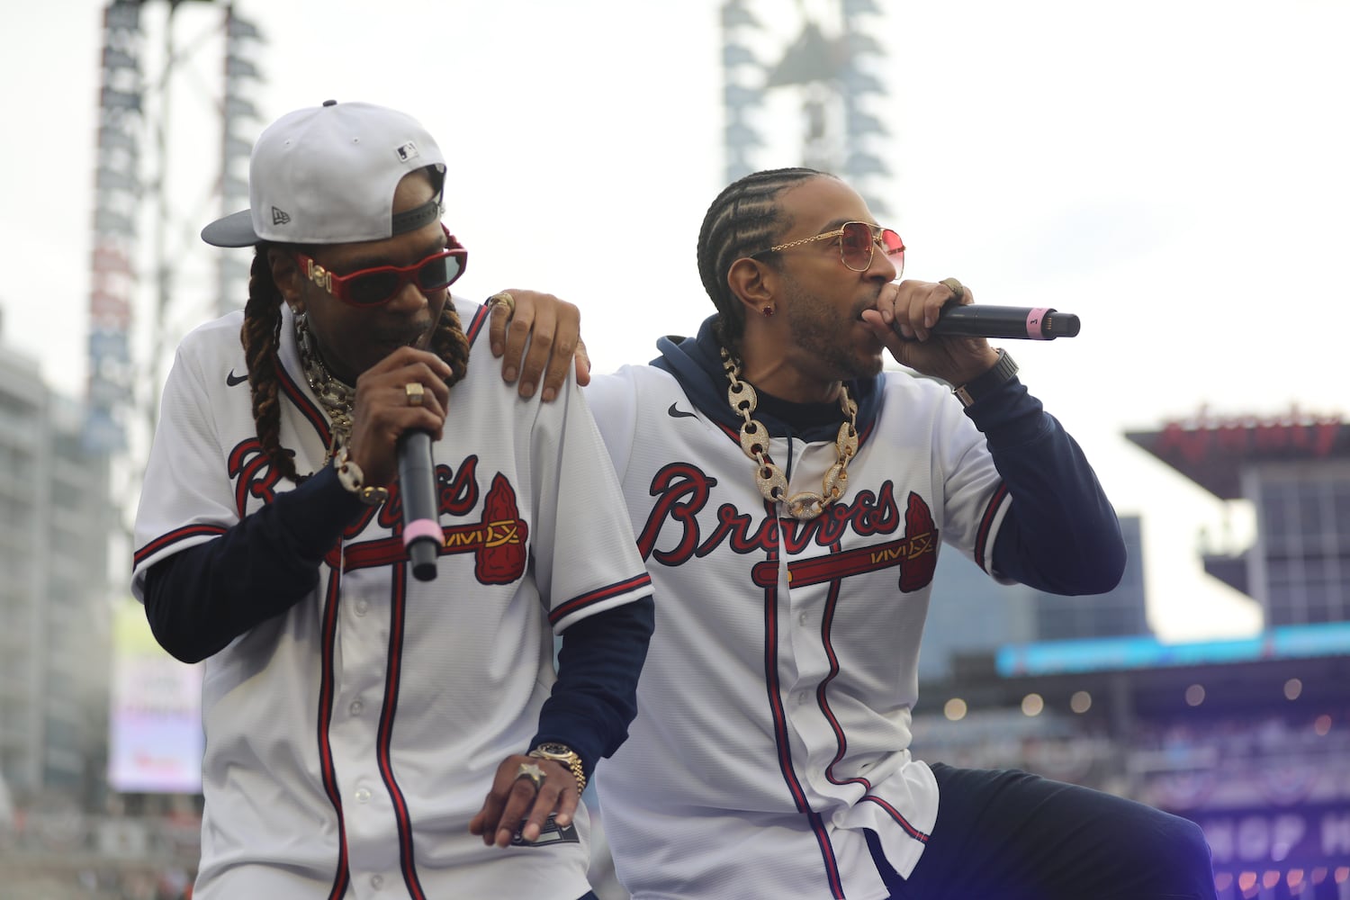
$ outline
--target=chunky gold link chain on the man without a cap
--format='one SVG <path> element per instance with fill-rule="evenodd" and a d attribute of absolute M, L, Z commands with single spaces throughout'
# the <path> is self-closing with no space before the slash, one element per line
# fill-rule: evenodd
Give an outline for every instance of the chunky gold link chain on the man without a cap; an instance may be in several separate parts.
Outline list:
<path fill-rule="evenodd" d="M 726 389 L 726 399 L 732 409 L 741 414 L 745 421 L 741 424 L 741 449 L 757 464 L 755 470 L 755 483 L 760 488 L 764 499 L 774 503 L 787 503 L 787 513 L 795 519 L 809 521 L 825 511 L 825 507 L 844 497 L 848 487 L 848 464 L 857 455 L 857 403 L 848 395 L 848 389 L 840 385 L 840 409 L 844 410 L 844 424 L 840 425 L 838 437 L 834 439 L 834 452 L 837 460 L 821 479 L 821 493 L 802 491 L 787 497 L 787 476 L 768 457 L 768 429 L 764 424 L 751 418 L 757 405 L 755 389 L 749 382 L 741 381 L 741 363 L 726 349 L 722 349 L 722 368 L 732 386 Z M 784 499 L 786 498 L 786 499 Z"/>

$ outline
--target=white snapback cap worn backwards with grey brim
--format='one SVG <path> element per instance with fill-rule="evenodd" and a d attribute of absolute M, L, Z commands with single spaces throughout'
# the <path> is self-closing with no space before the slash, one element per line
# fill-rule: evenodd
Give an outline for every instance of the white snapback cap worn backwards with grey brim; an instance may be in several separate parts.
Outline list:
<path fill-rule="evenodd" d="M 297 109 L 254 144 L 248 209 L 211 223 L 201 239 L 217 247 L 346 244 L 416 231 L 440 217 L 441 185 L 429 202 L 398 216 L 394 189 L 427 166 L 446 173 L 440 147 L 406 113 L 335 100 Z"/>

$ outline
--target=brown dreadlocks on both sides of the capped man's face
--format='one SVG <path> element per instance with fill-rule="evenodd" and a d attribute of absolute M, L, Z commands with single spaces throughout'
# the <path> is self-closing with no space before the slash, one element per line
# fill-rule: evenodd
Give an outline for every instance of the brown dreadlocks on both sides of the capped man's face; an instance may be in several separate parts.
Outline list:
<path fill-rule="evenodd" d="M 243 343 L 244 362 L 248 366 L 248 390 L 252 394 L 254 424 L 262 452 L 273 471 L 298 484 L 304 476 L 296 472 L 294 453 L 281 445 L 278 368 L 284 300 L 267 262 L 269 250 L 284 247 L 262 242 L 254 251 L 252 267 L 248 271 L 248 302 L 244 305 L 244 324 L 239 329 L 239 340 Z M 455 313 L 454 300 L 447 298 L 440 313 L 440 321 L 436 322 L 436 331 L 431 336 L 431 352 L 450 364 L 447 385 L 454 386 L 464 376 L 468 368 L 468 340 Z"/>

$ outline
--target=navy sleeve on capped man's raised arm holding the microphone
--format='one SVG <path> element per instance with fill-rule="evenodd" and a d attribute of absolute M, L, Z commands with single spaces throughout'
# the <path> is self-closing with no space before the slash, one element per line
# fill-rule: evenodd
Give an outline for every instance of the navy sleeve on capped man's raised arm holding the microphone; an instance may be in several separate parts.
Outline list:
<path fill-rule="evenodd" d="M 319 565 L 369 507 L 324 467 L 205 544 L 146 572 L 146 618 L 176 658 L 198 663 L 281 615 L 319 583 Z"/>

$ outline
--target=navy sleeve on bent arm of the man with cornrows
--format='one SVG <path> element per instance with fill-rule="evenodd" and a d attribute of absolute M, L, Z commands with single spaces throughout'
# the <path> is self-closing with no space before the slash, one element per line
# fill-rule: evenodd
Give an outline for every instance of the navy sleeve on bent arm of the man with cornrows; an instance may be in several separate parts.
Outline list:
<path fill-rule="evenodd" d="M 998 575 L 1053 594 L 1103 594 L 1125 573 L 1115 509 L 1077 441 L 1017 378 L 965 409 L 1011 497 Z"/>

